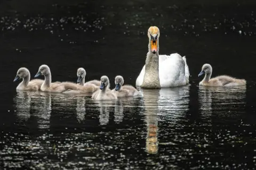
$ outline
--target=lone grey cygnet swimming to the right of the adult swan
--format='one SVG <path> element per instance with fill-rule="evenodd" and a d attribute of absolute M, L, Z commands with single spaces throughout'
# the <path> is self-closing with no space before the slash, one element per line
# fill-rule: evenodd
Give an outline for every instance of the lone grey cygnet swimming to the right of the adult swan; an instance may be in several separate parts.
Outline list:
<path fill-rule="evenodd" d="M 204 79 L 199 82 L 200 86 L 245 86 L 246 80 L 236 79 L 228 75 L 219 75 L 212 78 L 212 66 L 210 64 L 204 64 L 202 71 L 198 74 L 198 77 L 205 74 Z"/>

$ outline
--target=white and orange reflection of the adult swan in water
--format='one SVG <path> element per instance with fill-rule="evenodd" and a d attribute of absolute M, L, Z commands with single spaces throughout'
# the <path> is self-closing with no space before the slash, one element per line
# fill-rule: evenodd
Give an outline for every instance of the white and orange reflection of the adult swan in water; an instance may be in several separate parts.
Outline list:
<path fill-rule="evenodd" d="M 177 121 L 178 116 L 185 114 L 188 110 L 189 86 L 142 91 L 147 122 L 146 151 L 149 154 L 157 154 L 159 129 L 157 115 L 161 115 L 161 121 L 164 119 L 172 123 Z"/>

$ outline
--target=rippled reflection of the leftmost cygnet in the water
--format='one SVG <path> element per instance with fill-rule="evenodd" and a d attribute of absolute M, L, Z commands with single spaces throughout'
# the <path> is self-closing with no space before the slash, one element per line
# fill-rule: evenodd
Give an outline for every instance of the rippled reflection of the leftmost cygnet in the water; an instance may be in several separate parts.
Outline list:
<path fill-rule="evenodd" d="M 16 105 L 16 116 L 19 123 L 25 123 L 30 118 L 30 101 L 28 91 L 17 91 L 14 97 L 14 104 Z"/>

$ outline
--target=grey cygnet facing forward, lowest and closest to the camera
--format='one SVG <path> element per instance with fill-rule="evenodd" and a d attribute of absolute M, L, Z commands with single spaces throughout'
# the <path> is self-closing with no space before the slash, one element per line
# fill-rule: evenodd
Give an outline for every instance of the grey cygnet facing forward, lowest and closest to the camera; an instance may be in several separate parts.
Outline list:
<path fill-rule="evenodd" d="M 109 79 L 106 75 L 103 75 L 100 78 L 101 85 L 100 85 L 100 90 L 95 91 L 92 94 L 92 99 L 95 100 L 115 100 L 117 99 L 117 96 L 114 92 L 112 92 L 109 89 Z"/>

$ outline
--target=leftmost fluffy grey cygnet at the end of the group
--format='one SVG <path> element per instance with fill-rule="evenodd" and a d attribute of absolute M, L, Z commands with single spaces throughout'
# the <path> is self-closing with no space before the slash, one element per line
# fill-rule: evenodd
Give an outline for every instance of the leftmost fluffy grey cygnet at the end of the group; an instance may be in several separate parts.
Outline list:
<path fill-rule="evenodd" d="M 30 81 L 30 72 L 26 67 L 21 67 L 17 71 L 17 75 L 13 82 L 18 81 L 19 79 L 23 80 L 19 83 L 16 90 L 38 91 L 44 82 L 42 79 L 34 79 Z"/>

